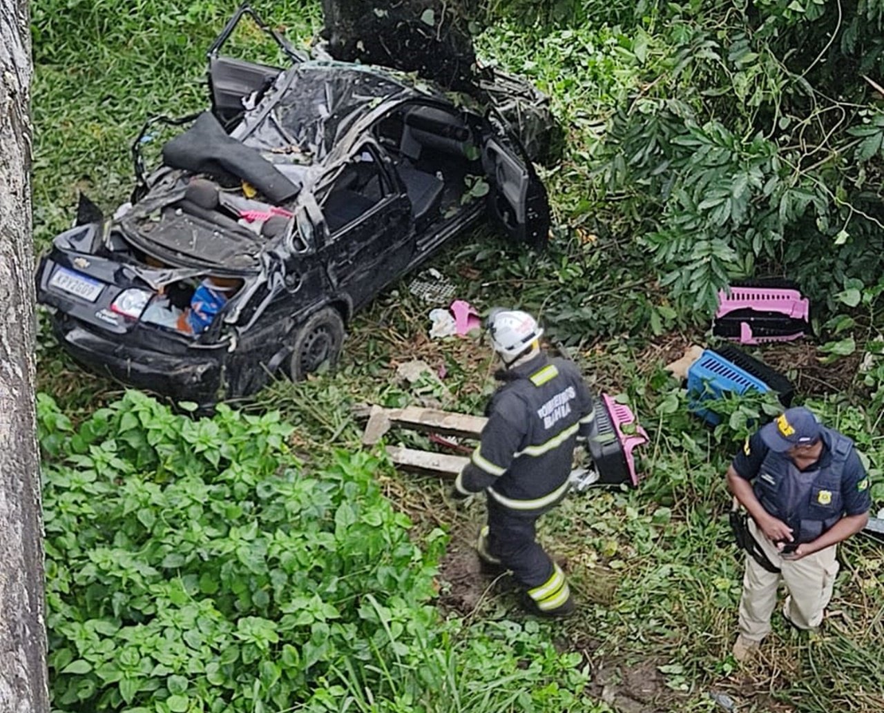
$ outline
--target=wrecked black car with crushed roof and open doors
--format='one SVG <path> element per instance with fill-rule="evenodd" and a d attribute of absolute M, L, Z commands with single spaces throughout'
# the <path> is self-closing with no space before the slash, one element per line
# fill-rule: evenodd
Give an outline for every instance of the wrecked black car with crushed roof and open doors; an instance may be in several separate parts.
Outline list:
<path fill-rule="evenodd" d="M 333 362 L 356 309 L 484 216 L 534 247 L 549 228 L 493 111 L 265 26 L 287 69 L 221 56 L 241 14 L 210 49 L 212 109 L 150 176 L 136 141 L 133 200 L 58 235 L 37 274 L 74 359 L 200 406 Z"/>

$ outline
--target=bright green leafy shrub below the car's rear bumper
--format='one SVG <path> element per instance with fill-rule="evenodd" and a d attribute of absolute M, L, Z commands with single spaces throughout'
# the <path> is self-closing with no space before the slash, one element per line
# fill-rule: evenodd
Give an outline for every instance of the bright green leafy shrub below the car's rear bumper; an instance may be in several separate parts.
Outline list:
<path fill-rule="evenodd" d="M 285 709 L 434 620 L 433 540 L 408 540 L 377 459 L 310 477 L 278 414 L 191 421 L 134 391 L 76 432 L 40 413 L 57 709 Z"/>

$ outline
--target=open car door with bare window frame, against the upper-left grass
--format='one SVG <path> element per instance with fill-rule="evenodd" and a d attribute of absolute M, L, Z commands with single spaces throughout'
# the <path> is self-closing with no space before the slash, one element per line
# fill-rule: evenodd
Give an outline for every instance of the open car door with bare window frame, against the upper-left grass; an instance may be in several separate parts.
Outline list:
<path fill-rule="evenodd" d="M 244 102 L 248 101 L 251 96 L 254 96 L 254 101 L 257 102 L 263 93 L 271 87 L 279 72 L 282 72 L 279 67 L 247 62 L 234 57 L 224 57 L 220 54 L 221 48 L 233 34 L 233 30 L 244 15 L 253 19 L 255 25 L 268 34 L 292 62 L 302 62 L 307 58 L 294 49 L 285 37 L 265 25 L 248 3 L 241 4 L 206 53 L 206 57 L 209 59 L 209 91 L 212 100 L 212 113 L 228 133 L 239 123 L 245 110 Z"/>

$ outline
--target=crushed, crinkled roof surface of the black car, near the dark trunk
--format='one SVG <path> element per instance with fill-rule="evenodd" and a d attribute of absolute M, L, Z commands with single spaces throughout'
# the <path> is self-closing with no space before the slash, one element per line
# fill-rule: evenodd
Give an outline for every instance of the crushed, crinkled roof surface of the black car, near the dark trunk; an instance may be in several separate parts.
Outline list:
<path fill-rule="evenodd" d="M 356 118 L 403 88 L 373 70 L 328 62 L 297 64 L 280 85 L 281 95 L 271 100 L 275 106 L 245 143 L 291 163 L 322 159 Z"/>

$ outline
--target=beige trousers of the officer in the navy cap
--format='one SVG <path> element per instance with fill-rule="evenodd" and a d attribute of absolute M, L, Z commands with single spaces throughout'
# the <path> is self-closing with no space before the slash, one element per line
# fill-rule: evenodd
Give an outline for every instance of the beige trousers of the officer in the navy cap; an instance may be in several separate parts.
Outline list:
<path fill-rule="evenodd" d="M 835 545 L 796 561 L 783 559 L 776 545 L 749 518 L 749 529 L 758 540 L 767 558 L 780 568 L 780 574 L 768 572 L 750 555 L 746 555 L 743 574 L 743 596 L 740 598 L 740 633 L 749 641 L 761 641 L 771 630 L 771 615 L 776 607 L 780 582 L 786 584 L 789 596 L 783 613 L 801 629 L 814 629 L 823 620 L 823 611 L 832 598 L 832 587 L 838 573 Z"/>

